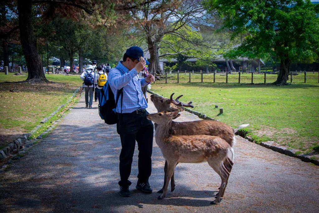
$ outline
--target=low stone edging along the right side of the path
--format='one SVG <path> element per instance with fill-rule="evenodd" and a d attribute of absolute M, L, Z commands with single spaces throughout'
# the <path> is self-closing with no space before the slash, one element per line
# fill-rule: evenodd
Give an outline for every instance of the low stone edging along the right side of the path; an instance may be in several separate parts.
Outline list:
<path fill-rule="evenodd" d="M 149 93 L 151 93 L 151 94 L 154 94 L 154 95 L 162 97 L 161 95 L 158 95 L 158 94 L 156 94 L 156 93 L 154 93 L 152 91 L 149 91 L 149 90 L 147 90 L 147 91 Z M 194 115 L 197 115 L 198 118 L 207 119 L 207 120 L 216 120 L 215 118 L 210 118 L 210 117 L 206 116 L 205 114 L 202 114 L 202 113 L 194 111 L 194 110 L 190 110 L 189 108 L 185 108 L 185 107 L 182 107 L 182 108 L 185 111 L 188 111 L 188 112 L 190 112 L 190 113 L 192 113 Z M 261 145 L 263 147 L 269 148 L 269 149 L 271 149 L 271 150 L 273 150 L 275 152 L 279 152 L 281 154 L 285 154 L 285 155 L 288 155 L 288 156 L 291 156 L 291 157 L 296 157 L 296 158 L 299 158 L 300 160 L 302 160 L 304 162 L 310 162 L 310 163 L 313 163 L 313 164 L 319 166 L 319 160 L 311 159 L 311 156 L 309 156 L 309 155 L 304 155 L 304 154 L 296 155 L 295 154 L 295 153 L 297 153 L 300 150 L 289 149 L 288 146 L 279 145 L 279 144 L 275 143 L 274 141 L 266 141 L 266 142 L 257 143 L 254 139 L 252 139 L 249 136 L 245 136 L 245 139 L 247 139 L 250 142 L 259 144 L 259 145 Z"/>

